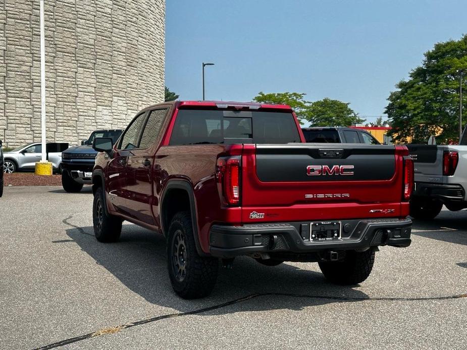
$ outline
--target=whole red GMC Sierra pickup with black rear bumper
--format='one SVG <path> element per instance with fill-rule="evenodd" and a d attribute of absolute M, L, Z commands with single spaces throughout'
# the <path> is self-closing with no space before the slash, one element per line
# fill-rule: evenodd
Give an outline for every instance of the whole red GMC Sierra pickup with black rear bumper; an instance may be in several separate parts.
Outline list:
<path fill-rule="evenodd" d="M 407 247 L 413 163 L 405 146 L 303 143 L 288 106 L 173 102 L 96 138 L 94 232 L 122 221 L 167 238 L 182 298 L 211 293 L 219 259 L 318 262 L 332 282 L 370 274 L 379 246 Z"/>

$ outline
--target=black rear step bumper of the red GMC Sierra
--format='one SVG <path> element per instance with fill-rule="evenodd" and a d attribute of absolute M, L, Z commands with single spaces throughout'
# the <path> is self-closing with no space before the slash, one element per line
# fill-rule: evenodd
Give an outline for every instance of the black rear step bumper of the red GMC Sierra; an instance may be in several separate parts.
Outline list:
<path fill-rule="evenodd" d="M 210 252 L 215 257 L 232 258 L 256 253 L 360 250 L 377 246 L 408 247 L 410 219 L 342 220 L 341 238 L 310 241 L 309 221 L 213 225 Z"/>

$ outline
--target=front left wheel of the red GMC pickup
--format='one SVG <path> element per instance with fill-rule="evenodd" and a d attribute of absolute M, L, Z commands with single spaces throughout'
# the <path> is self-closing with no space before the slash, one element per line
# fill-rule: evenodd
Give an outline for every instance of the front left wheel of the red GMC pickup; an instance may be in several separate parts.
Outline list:
<path fill-rule="evenodd" d="M 92 204 L 92 223 L 97 241 L 103 243 L 117 242 L 122 233 L 122 219 L 106 213 L 104 192 L 97 188 Z"/>

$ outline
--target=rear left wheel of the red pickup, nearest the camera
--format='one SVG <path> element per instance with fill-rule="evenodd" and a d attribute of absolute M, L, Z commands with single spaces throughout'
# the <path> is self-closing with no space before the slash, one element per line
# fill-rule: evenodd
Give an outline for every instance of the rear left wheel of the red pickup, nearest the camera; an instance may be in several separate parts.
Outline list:
<path fill-rule="evenodd" d="M 183 299 L 209 296 L 216 284 L 219 259 L 196 251 L 189 212 L 175 214 L 167 236 L 167 267 L 175 293 Z"/>

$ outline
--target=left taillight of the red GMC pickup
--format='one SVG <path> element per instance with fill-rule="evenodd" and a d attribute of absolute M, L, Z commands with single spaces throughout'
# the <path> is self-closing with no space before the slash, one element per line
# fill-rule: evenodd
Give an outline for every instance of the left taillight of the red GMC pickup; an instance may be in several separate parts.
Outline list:
<path fill-rule="evenodd" d="M 217 160 L 216 181 L 225 205 L 240 203 L 240 157 L 221 157 Z"/>

